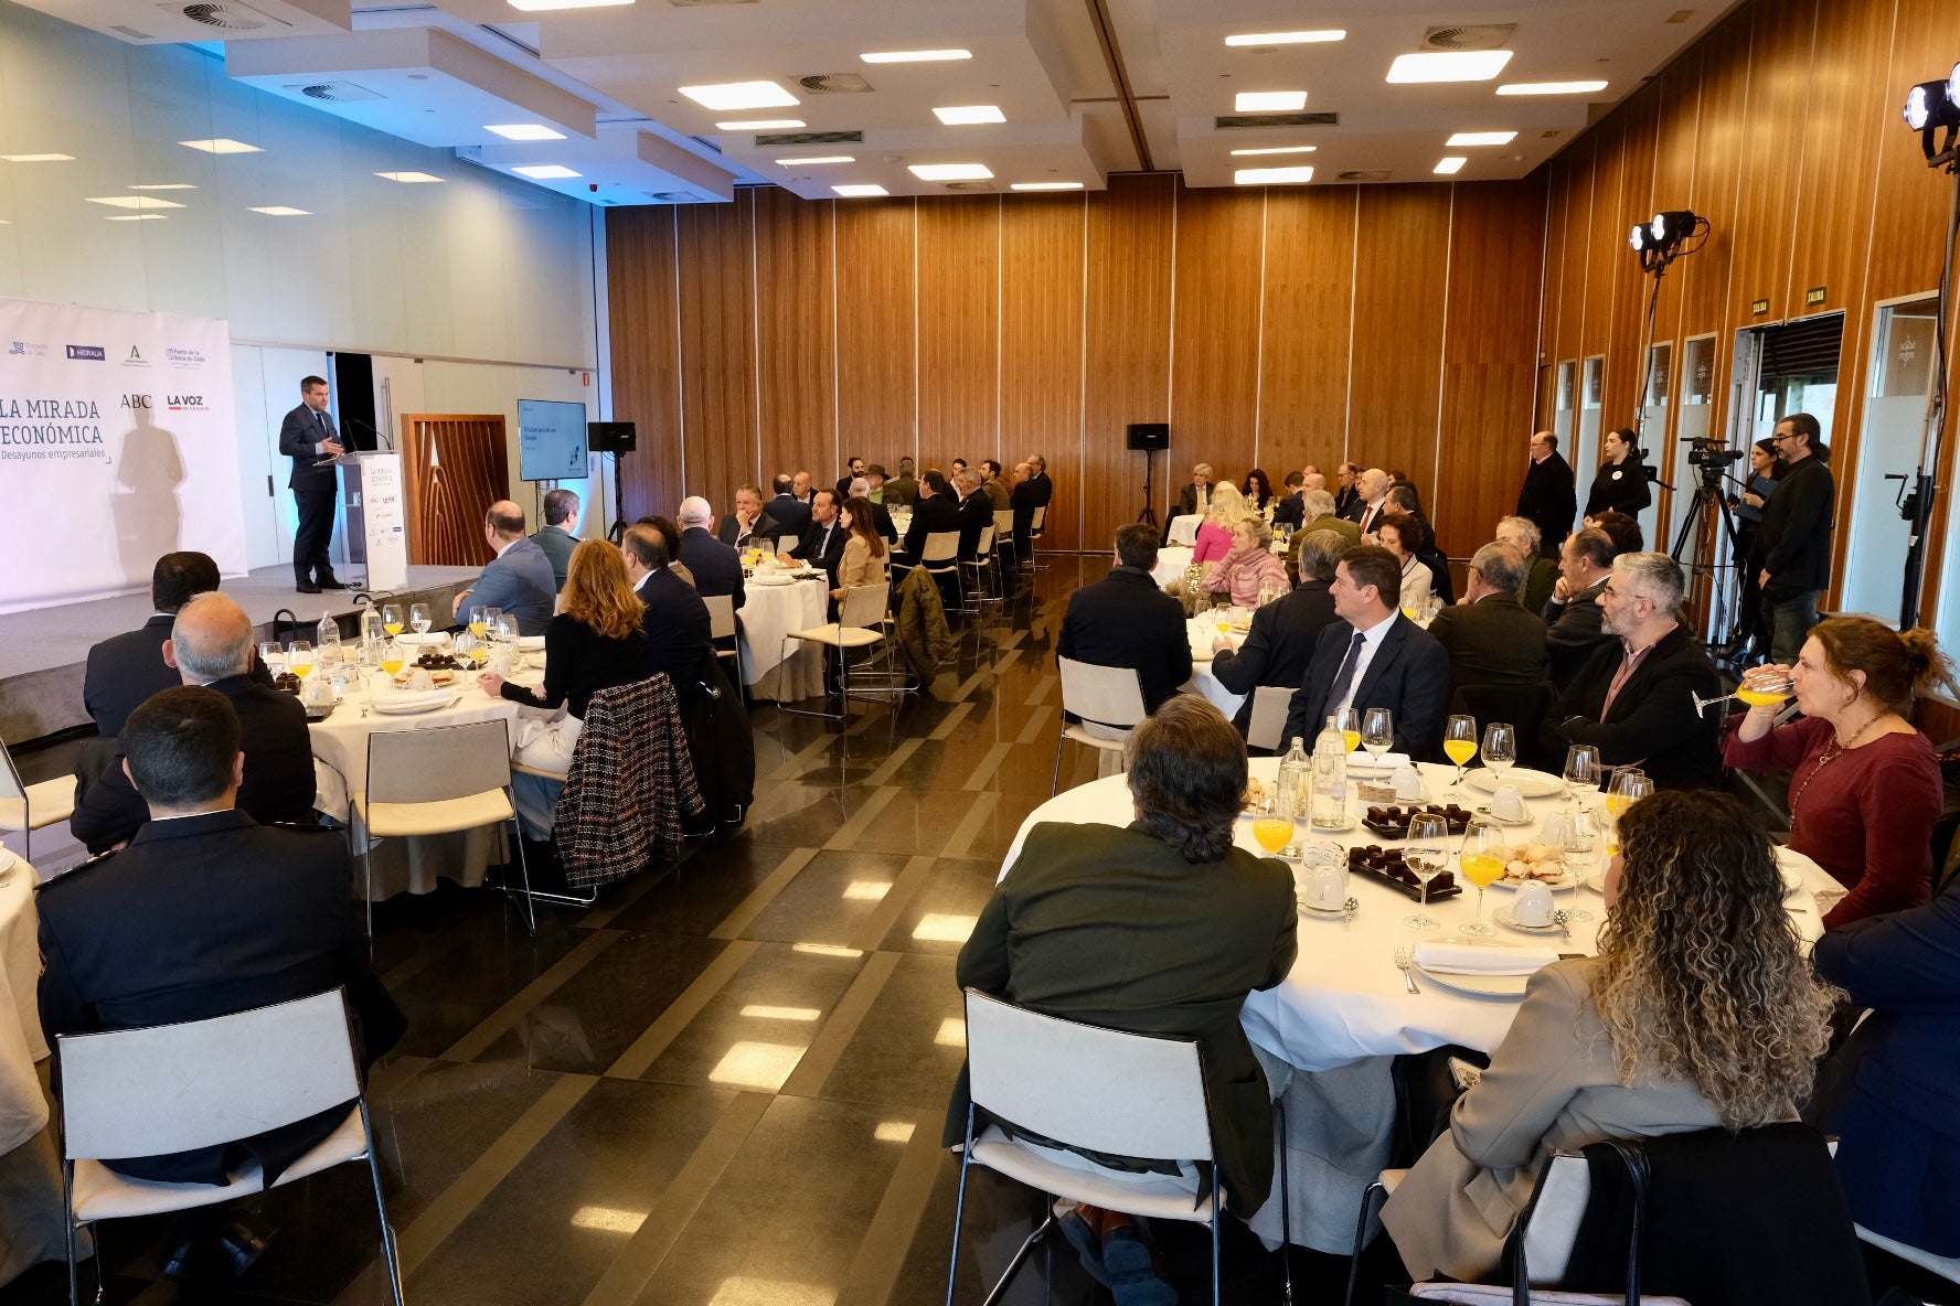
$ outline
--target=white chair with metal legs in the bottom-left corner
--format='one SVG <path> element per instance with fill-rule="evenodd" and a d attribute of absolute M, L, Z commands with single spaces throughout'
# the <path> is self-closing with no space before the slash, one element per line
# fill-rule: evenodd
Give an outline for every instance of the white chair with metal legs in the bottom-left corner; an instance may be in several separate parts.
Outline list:
<path fill-rule="evenodd" d="M 382 1196 L 374 1126 L 355 1071 L 339 989 L 212 1020 L 147 1030 L 63 1034 L 61 1200 L 69 1236 L 69 1304 L 78 1306 L 74 1232 L 98 1220 L 190 1210 L 265 1190 L 249 1161 L 225 1187 L 123 1179 L 102 1157 L 149 1157 L 251 1138 L 353 1100 L 347 1118 L 272 1187 L 345 1161 L 374 1181 L 388 1286 L 402 1306 L 402 1267 Z"/>

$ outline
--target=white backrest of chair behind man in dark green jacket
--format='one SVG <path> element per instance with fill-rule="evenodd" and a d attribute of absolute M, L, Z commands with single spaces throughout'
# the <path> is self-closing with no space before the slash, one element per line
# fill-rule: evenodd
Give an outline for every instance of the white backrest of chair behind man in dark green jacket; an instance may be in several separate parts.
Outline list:
<path fill-rule="evenodd" d="M 1209 1161 L 1198 1044 L 1043 1016 L 966 991 L 976 1106 L 1070 1147 Z"/>

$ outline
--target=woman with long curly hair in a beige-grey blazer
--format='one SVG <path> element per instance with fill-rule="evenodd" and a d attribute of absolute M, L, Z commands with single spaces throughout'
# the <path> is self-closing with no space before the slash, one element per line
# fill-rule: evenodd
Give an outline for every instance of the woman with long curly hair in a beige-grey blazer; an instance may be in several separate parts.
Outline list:
<path fill-rule="evenodd" d="M 1619 838 L 1599 956 L 1531 977 L 1490 1069 L 1382 1210 L 1415 1279 L 1495 1273 L 1552 1151 L 1776 1124 L 1809 1096 L 1831 991 L 1754 816 L 1723 793 L 1656 793 Z"/>

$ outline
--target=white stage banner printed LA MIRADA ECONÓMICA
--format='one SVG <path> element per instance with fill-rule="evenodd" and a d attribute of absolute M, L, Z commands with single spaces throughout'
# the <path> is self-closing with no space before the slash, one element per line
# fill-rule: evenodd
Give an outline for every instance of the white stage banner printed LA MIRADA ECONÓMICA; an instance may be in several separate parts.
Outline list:
<path fill-rule="evenodd" d="M 247 570 L 229 327 L 0 298 L 0 613 L 143 591 L 180 548 Z"/>

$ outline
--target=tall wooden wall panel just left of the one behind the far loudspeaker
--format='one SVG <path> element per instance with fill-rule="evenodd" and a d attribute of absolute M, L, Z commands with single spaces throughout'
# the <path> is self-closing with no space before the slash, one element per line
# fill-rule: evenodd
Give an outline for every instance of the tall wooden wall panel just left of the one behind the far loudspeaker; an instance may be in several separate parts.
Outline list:
<path fill-rule="evenodd" d="M 1043 544 L 1082 548 L 1084 409 L 1082 294 L 1088 249 L 1086 196 L 1007 196 L 1000 255 L 1000 439 L 982 441 L 1005 466 L 1027 454 L 1049 460 L 1056 503 Z M 1119 429 L 1088 435 L 1121 443 Z M 968 454 L 968 458 L 976 458 Z"/>

